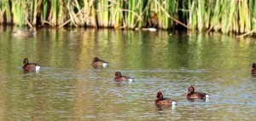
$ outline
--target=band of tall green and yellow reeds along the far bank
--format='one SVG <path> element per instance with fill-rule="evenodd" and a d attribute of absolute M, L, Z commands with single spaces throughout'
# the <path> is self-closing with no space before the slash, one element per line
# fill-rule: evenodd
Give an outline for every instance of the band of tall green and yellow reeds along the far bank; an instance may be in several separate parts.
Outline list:
<path fill-rule="evenodd" d="M 1 0 L 0 24 L 256 33 L 254 0 Z"/>

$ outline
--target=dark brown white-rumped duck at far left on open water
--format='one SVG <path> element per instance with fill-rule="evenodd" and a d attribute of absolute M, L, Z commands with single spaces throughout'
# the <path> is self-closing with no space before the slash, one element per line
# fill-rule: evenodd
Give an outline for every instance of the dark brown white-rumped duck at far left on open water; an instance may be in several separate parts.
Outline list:
<path fill-rule="evenodd" d="M 24 71 L 29 72 L 29 71 L 36 71 L 39 72 L 41 66 L 39 66 L 37 63 L 29 63 L 27 58 L 24 58 L 23 60 L 23 66 L 22 68 Z"/>

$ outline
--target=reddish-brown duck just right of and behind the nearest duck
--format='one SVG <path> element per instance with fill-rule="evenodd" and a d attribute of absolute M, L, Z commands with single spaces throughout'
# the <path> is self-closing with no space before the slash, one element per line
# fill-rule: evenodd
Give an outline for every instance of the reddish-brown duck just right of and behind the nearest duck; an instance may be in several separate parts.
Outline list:
<path fill-rule="evenodd" d="M 195 92 L 195 88 L 193 86 L 189 86 L 187 92 L 188 92 L 187 94 L 188 100 L 195 100 L 195 99 L 207 100 L 207 98 L 209 97 L 209 95 L 207 95 L 206 93 Z"/>

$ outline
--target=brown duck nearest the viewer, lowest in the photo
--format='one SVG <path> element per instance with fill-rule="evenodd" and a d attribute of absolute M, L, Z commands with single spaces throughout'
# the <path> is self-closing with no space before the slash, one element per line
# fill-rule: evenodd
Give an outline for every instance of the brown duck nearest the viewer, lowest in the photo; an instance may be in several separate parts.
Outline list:
<path fill-rule="evenodd" d="M 158 91 L 156 94 L 156 100 L 154 101 L 155 106 L 174 106 L 176 105 L 176 101 L 172 101 L 169 98 L 164 98 L 164 95 L 161 91 Z"/>

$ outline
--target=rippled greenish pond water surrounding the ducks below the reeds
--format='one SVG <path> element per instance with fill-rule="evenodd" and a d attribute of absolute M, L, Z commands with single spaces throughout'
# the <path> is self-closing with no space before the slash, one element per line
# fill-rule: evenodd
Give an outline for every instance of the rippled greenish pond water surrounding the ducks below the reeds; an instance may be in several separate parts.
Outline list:
<path fill-rule="evenodd" d="M 0 30 L 0 120 L 254 120 L 256 41 L 225 35 L 40 29 Z M 93 68 L 98 56 L 106 68 Z M 23 72 L 27 57 L 42 66 Z M 113 81 L 115 72 L 135 78 Z M 210 95 L 187 101 L 189 85 Z M 154 106 L 158 91 L 176 107 Z"/>

